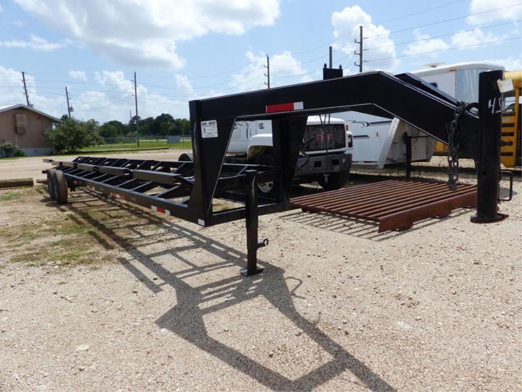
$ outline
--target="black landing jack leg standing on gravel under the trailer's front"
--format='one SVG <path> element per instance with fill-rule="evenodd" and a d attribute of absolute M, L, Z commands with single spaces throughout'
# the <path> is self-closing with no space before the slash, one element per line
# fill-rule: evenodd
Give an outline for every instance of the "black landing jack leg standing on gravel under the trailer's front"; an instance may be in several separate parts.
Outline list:
<path fill-rule="evenodd" d="M 255 183 L 256 170 L 246 170 L 247 187 L 245 189 L 245 212 L 246 212 L 246 249 L 247 259 L 246 268 L 240 270 L 243 275 L 255 275 L 263 271 L 257 267 L 257 248 L 266 245 L 259 244 L 257 230 L 259 227 L 259 217 L 257 211 L 257 185 Z"/>

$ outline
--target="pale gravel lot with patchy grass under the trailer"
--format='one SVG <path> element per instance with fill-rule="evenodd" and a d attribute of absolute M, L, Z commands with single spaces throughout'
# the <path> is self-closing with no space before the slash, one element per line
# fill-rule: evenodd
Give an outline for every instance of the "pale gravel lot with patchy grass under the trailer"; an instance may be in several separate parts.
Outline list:
<path fill-rule="evenodd" d="M 265 272 L 244 277 L 242 221 L 0 191 L 0 390 L 522 390 L 515 192 L 488 225 L 263 216 Z"/>

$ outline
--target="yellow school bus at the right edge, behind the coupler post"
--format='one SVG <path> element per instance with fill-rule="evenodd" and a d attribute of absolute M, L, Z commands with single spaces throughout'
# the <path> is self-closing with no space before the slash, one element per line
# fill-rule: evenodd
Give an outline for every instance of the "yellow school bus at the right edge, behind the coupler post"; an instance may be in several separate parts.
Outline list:
<path fill-rule="evenodd" d="M 500 161 L 505 167 L 520 166 L 520 88 L 522 87 L 522 71 L 506 72 L 504 80 L 511 79 L 513 90 L 504 94 L 504 111 L 502 112 L 502 141 Z M 448 146 L 438 142 L 435 154 L 445 155 Z"/>

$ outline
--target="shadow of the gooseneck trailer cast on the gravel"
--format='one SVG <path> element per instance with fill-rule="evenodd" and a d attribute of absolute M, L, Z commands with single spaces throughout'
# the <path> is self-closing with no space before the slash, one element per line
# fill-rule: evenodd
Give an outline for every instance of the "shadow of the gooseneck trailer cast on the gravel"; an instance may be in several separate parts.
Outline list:
<path fill-rule="evenodd" d="M 96 198 L 98 199 L 98 198 Z M 227 363 L 236 370 L 252 377 L 260 384 L 274 390 L 310 390 L 327 383 L 345 371 L 352 372 L 366 388 L 374 391 L 395 390 L 383 378 L 373 372 L 360 360 L 350 354 L 339 343 L 317 327 L 316 322 L 312 322 L 304 317 L 296 309 L 294 298 L 299 297 L 295 291 L 301 285 L 301 280 L 289 276 L 284 276 L 284 270 L 272 264 L 260 261 L 265 267 L 263 274 L 255 276 L 243 276 L 239 271 L 234 272 L 228 278 L 216 280 L 209 274 L 208 283 L 193 286 L 189 284 L 194 276 L 206 274 L 223 268 L 244 267 L 246 254 L 223 245 L 219 241 L 205 236 L 195 230 L 186 228 L 174 221 L 163 220 L 162 218 L 145 212 L 134 205 L 110 198 L 104 199 L 106 204 L 97 205 L 97 213 L 113 214 L 114 211 L 125 209 L 129 215 L 127 218 L 117 222 L 117 225 L 108 224 L 109 221 L 97 220 L 92 217 L 92 203 L 96 201 L 88 191 L 74 198 L 73 203 L 58 207 L 62 211 L 70 211 L 73 214 L 70 218 L 85 221 L 92 226 L 91 232 L 99 234 L 94 237 L 99 243 L 110 249 L 108 241 L 102 236 L 109 237 L 117 245 L 121 246 L 129 257 L 121 257 L 118 260 L 121 265 L 131 272 L 136 279 L 144 283 L 153 293 L 163 290 L 162 285 L 171 286 L 176 292 L 177 303 L 169 309 L 163 316 L 156 320 L 160 328 L 165 328 L 181 338 L 194 344 L 197 348 L 206 351 L 215 358 Z M 147 223 L 143 223 L 144 220 Z M 168 237 L 165 246 L 172 248 L 145 252 L 140 250 L 147 245 L 151 245 L 161 240 L 156 233 L 144 234 L 143 226 L 155 225 L 162 230 L 161 236 Z M 131 241 L 127 236 L 123 237 L 116 233 L 117 230 L 127 229 L 134 233 Z M 176 247 L 176 240 L 183 243 Z M 190 260 L 182 255 L 182 252 L 192 249 L 204 249 L 210 252 L 213 260 L 211 263 L 201 263 L 201 259 L 195 257 Z M 182 269 L 172 271 L 155 261 L 161 256 L 169 256 L 177 259 L 183 264 Z M 146 273 L 142 272 L 145 271 Z M 160 284 L 147 277 L 147 274 L 155 274 L 159 278 Z M 297 281 L 297 284 L 294 283 Z M 287 282 L 291 282 L 291 289 Z M 299 378 L 292 379 L 278 371 L 270 368 L 259 360 L 250 358 L 247 354 L 240 352 L 227 344 L 211 337 L 207 331 L 204 317 L 213 313 L 220 312 L 231 306 L 252 301 L 256 297 L 263 296 L 275 309 L 284 315 L 296 328 L 307 335 L 318 347 L 331 356 L 331 359 Z M 208 305 L 210 303 L 210 305 Z M 259 309 L 259 313 L 262 312 Z M 251 333 L 258 335 L 263 329 L 266 321 L 262 315 L 257 314 L 256 319 L 252 320 L 256 329 Z M 265 325 L 264 325 L 265 324 Z M 306 361 L 306 359 L 304 359 Z M 211 371 L 207 369 L 207 371 Z"/>

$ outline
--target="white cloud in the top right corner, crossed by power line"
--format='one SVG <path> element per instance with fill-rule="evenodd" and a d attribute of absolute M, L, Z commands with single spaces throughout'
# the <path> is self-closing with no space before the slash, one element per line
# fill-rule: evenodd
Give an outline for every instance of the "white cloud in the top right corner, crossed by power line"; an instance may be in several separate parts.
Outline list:
<path fill-rule="evenodd" d="M 518 4 L 518 5 L 517 5 Z M 514 6 L 514 7 L 509 7 Z M 509 8 L 505 8 L 509 7 Z M 503 8 L 503 9 L 499 9 Z M 495 9 L 491 12 L 485 12 Z M 492 2 L 491 0 L 471 0 L 469 6 L 470 14 L 479 14 L 480 15 L 470 15 L 467 18 L 468 23 L 473 25 L 478 25 L 482 23 L 488 23 L 498 20 L 518 20 L 520 19 L 520 15 L 522 14 L 522 5 L 519 2 L 514 0 L 495 0 Z"/>

